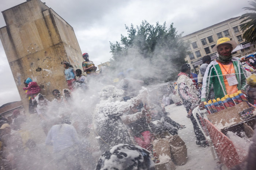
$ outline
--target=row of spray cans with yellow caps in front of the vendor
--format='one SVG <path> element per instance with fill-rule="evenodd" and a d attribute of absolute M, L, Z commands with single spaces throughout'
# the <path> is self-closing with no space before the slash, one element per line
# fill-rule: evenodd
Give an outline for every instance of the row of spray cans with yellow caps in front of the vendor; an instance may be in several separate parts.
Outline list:
<path fill-rule="evenodd" d="M 225 110 L 226 108 L 235 106 L 243 101 L 247 102 L 247 99 L 245 98 L 241 90 L 239 90 L 236 93 L 226 95 L 221 99 L 217 98 L 216 100 L 209 100 L 208 103 L 204 102 L 204 107 L 206 108 L 208 114 L 212 114 L 221 110 Z"/>

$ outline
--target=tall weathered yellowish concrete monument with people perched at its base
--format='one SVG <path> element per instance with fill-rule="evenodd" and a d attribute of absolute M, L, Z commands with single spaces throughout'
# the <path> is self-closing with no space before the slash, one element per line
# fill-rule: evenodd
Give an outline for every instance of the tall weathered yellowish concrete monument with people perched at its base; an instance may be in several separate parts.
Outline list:
<path fill-rule="evenodd" d="M 64 61 L 81 69 L 83 58 L 73 28 L 39 0 L 2 12 L 6 26 L 0 38 L 26 111 L 24 80 L 30 77 L 52 99 L 52 90 L 67 88 Z M 82 69 L 81 69 L 82 70 Z"/>

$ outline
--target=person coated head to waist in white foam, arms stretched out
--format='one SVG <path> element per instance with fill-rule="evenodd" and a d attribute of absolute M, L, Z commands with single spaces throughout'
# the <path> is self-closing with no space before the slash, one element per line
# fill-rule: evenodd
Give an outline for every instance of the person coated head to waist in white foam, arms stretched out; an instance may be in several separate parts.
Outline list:
<path fill-rule="evenodd" d="M 147 89 L 143 88 L 138 96 L 127 102 L 121 101 L 123 93 L 123 90 L 113 85 L 103 87 L 99 93 L 101 101 L 95 108 L 94 127 L 95 130 L 97 129 L 102 152 L 118 143 L 133 143 L 124 122 L 131 123 L 144 116 L 143 112 L 133 115 L 124 115 L 124 113 L 145 100 L 148 95 Z M 131 119 L 130 116 L 133 118 Z"/>

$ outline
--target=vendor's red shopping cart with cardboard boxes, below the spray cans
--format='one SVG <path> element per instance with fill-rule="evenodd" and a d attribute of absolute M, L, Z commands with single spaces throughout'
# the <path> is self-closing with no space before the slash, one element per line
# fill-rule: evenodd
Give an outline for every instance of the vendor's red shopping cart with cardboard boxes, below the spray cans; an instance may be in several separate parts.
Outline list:
<path fill-rule="evenodd" d="M 246 100 L 233 104 L 218 111 L 212 110 L 212 104 L 206 105 L 206 109 L 193 113 L 217 158 L 227 169 L 245 159 L 256 122 L 255 108 Z"/>

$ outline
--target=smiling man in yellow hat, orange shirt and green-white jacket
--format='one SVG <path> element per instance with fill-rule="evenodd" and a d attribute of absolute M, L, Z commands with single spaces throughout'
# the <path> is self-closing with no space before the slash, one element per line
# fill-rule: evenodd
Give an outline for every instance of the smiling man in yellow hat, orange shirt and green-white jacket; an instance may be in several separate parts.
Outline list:
<path fill-rule="evenodd" d="M 215 98 L 222 98 L 241 90 L 244 94 L 246 88 L 246 75 L 244 67 L 238 58 L 232 57 L 232 50 L 237 43 L 227 37 L 217 41 L 212 51 L 218 52 L 217 60 L 212 61 L 204 74 L 201 102 L 209 100 L 211 86 L 213 85 Z M 201 106 L 202 106 L 201 103 Z"/>

